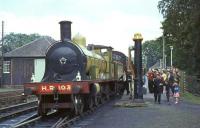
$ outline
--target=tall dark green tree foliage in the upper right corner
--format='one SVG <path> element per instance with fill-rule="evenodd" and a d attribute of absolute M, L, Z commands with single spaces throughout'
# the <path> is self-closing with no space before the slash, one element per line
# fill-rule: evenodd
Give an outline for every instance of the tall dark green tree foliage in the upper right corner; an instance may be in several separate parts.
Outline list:
<path fill-rule="evenodd" d="M 174 46 L 174 66 L 191 74 L 200 74 L 200 1 L 161 0 L 158 8 L 166 43 Z"/>

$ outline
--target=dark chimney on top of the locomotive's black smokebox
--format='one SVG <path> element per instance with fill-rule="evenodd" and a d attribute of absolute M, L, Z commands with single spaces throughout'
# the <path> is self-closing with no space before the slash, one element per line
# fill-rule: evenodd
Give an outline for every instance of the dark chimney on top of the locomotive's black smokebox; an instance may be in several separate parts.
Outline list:
<path fill-rule="evenodd" d="M 61 41 L 71 40 L 71 21 L 60 21 L 60 37 Z"/>

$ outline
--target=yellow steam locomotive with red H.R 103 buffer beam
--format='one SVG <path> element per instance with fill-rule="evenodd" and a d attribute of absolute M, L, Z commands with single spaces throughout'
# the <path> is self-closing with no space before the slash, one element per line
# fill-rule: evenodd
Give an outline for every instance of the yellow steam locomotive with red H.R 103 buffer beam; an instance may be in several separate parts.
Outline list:
<path fill-rule="evenodd" d="M 127 57 L 112 47 L 73 42 L 70 21 L 61 21 L 60 30 L 61 41 L 46 52 L 42 81 L 24 84 L 26 95 L 38 97 L 38 114 L 51 109 L 81 114 L 119 95 Z"/>

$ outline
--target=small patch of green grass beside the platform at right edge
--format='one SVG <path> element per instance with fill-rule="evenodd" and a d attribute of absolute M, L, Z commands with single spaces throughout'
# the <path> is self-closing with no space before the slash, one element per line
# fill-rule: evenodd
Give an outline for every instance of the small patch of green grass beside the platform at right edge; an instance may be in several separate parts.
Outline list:
<path fill-rule="evenodd" d="M 188 102 L 191 102 L 191 103 L 194 103 L 194 104 L 200 104 L 200 97 L 199 96 L 194 96 L 193 94 L 189 93 L 189 92 L 184 92 L 182 94 L 183 96 L 183 99 L 188 101 Z"/>

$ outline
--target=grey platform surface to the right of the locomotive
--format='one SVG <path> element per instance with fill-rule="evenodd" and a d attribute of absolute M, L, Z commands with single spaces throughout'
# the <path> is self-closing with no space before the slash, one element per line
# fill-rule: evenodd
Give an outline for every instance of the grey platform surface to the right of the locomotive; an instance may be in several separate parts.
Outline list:
<path fill-rule="evenodd" d="M 129 96 L 112 101 L 78 122 L 73 128 L 200 128 L 200 105 L 181 100 L 170 104 L 162 95 L 161 104 L 154 103 L 153 94 L 144 95 L 146 106 L 115 106 L 128 102 Z M 131 102 L 131 101 L 129 101 Z"/>

